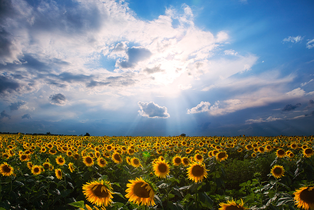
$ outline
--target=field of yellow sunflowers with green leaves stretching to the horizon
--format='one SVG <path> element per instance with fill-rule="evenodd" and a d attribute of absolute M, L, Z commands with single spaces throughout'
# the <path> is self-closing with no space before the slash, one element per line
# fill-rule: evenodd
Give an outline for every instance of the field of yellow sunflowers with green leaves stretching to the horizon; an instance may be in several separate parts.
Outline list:
<path fill-rule="evenodd" d="M 0 210 L 314 210 L 314 136 L 0 135 Z"/>

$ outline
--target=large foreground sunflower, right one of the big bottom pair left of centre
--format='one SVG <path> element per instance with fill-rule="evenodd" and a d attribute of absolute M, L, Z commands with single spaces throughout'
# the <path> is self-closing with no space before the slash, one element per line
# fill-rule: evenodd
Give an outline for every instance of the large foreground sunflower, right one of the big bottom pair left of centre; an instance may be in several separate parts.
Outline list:
<path fill-rule="evenodd" d="M 129 198 L 129 202 L 133 204 L 154 206 L 155 188 L 150 182 L 143 180 L 142 178 L 135 178 L 135 180 L 129 180 L 126 189 L 126 198 Z"/>

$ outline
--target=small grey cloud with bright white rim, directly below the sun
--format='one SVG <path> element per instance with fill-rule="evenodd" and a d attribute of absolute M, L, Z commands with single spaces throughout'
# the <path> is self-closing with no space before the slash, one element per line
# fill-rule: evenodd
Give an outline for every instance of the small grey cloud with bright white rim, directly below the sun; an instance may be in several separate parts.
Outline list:
<path fill-rule="evenodd" d="M 170 114 L 167 113 L 167 107 L 159 106 L 154 102 L 144 103 L 138 102 L 137 103 L 141 110 L 138 113 L 143 117 L 148 118 L 168 118 Z"/>

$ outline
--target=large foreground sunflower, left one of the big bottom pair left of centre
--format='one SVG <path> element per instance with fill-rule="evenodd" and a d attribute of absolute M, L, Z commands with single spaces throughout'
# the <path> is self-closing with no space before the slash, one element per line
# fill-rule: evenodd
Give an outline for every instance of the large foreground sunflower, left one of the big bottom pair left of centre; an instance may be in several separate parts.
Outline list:
<path fill-rule="evenodd" d="M 83 193 L 86 200 L 97 206 L 105 206 L 111 204 L 113 198 L 110 182 L 101 180 L 83 184 Z"/>

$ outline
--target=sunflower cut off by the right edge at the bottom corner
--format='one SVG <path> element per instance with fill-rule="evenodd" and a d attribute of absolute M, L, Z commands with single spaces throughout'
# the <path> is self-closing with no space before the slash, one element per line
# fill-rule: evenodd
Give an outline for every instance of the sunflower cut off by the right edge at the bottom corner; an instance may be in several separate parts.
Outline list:
<path fill-rule="evenodd" d="M 314 209 L 314 187 L 301 187 L 294 193 L 295 205 L 305 210 Z"/>

